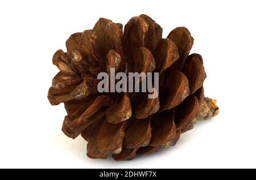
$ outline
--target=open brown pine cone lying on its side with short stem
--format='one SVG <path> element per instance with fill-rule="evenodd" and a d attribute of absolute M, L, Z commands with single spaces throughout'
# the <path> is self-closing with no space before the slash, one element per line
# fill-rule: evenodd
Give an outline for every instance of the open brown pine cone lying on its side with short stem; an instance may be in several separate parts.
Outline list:
<path fill-rule="evenodd" d="M 204 97 L 206 74 L 199 54 L 189 54 L 193 38 L 178 27 L 162 38 L 162 28 L 147 15 L 125 25 L 100 18 L 92 30 L 74 33 L 67 52 L 57 50 L 53 64 L 60 72 L 52 80 L 48 100 L 64 102 L 62 130 L 88 141 L 90 158 L 130 160 L 175 145 L 197 119 L 218 113 L 216 101 Z M 100 72 L 159 72 L 159 97 L 146 93 L 100 93 Z"/>

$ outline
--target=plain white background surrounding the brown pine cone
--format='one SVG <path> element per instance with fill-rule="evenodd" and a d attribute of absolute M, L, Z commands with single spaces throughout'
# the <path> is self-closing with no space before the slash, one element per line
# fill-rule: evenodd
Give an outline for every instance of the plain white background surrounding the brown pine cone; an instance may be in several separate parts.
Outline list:
<path fill-rule="evenodd" d="M 256 168 L 255 1 L 1 1 L 0 168 Z M 63 104 L 47 91 L 52 55 L 74 32 L 104 17 L 125 25 L 140 14 L 185 26 L 204 58 L 205 95 L 220 114 L 181 135 L 175 147 L 132 161 L 92 160 L 86 142 L 61 131 Z"/>

